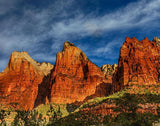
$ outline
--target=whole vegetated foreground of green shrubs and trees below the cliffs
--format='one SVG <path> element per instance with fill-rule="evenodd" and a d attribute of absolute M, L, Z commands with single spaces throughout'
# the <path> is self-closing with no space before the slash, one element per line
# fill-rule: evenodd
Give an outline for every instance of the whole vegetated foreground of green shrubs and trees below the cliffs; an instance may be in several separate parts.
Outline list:
<path fill-rule="evenodd" d="M 151 87 L 149 87 L 151 88 Z M 12 126 L 152 126 L 159 122 L 160 94 L 147 91 L 136 91 L 130 93 L 130 89 L 123 89 L 107 97 L 97 97 L 78 106 L 74 104 L 48 104 L 40 105 L 32 111 L 3 110 L 0 109 L 0 125 L 5 125 L 5 118 L 12 117 Z M 154 104 L 155 113 L 144 111 L 142 105 Z M 94 113 L 94 108 L 101 104 L 115 104 L 112 109 L 114 114 L 100 115 Z M 90 110 L 93 111 L 90 111 Z M 157 114 L 156 114 L 157 113 Z M 7 122 L 8 124 L 8 122 Z"/>

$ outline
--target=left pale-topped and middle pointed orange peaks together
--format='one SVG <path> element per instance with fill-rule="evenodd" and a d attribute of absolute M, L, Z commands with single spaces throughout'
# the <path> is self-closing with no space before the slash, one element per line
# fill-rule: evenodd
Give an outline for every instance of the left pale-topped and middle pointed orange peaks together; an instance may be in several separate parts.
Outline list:
<path fill-rule="evenodd" d="M 49 102 L 82 102 L 110 94 L 111 81 L 70 42 L 57 53 L 54 67 L 34 61 L 27 52 L 13 52 L 0 73 L 0 104 L 31 110 Z"/>

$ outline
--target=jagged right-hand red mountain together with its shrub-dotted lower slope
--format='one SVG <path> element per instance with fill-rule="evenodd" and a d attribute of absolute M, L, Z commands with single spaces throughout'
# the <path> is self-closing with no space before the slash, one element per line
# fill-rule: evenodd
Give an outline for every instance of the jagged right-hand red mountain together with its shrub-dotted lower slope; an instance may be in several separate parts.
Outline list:
<path fill-rule="evenodd" d="M 113 116 L 114 121 L 121 119 L 122 122 L 125 120 L 135 121 L 135 118 L 139 119 L 143 116 L 146 116 L 148 121 L 153 115 L 159 119 L 159 42 L 160 39 L 157 37 L 153 41 L 149 41 L 148 38 L 138 41 L 135 37 L 127 37 L 120 49 L 118 66 L 113 72 L 112 93 L 107 97 L 93 98 L 87 101 L 81 105 L 78 113 L 82 112 L 84 115 L 91 113 L 94 116 L 100 114 L 106 117 L 107 122 L 110 122 Z M 103 65 L 101 69 L 104 74 L 112 73 L 113 65 Z M 147 115 L 148 113 L 150 115 Z M 139 121 L 143 122 L 144 119 L 140 118 Z M 118 124 L 122 125 L 122 122 L 118 122 Z"/>

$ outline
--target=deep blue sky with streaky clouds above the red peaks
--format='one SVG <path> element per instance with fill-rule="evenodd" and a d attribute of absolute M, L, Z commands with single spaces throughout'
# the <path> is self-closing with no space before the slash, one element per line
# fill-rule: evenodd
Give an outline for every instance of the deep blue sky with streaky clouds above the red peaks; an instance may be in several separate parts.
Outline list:
<path fill-rule="evenodd" d="M 126 36 L 160 37 L 160 0 L 0 0 L 0 71 L 13 51 L 55 63 L 68 40 L 96 65 L 118 63 Z"/>

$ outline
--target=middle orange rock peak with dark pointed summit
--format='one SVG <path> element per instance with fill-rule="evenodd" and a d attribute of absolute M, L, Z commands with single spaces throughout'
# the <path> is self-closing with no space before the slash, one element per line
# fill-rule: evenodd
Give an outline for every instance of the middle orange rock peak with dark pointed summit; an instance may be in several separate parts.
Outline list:
<path fill-rule="evenodd" d="M 74 44 L 65 42 L 51 73 L 50 101 L 63 104 L 83 101 L 95 94 L 102 83 L 108 86 L 101 69 Z"/>

